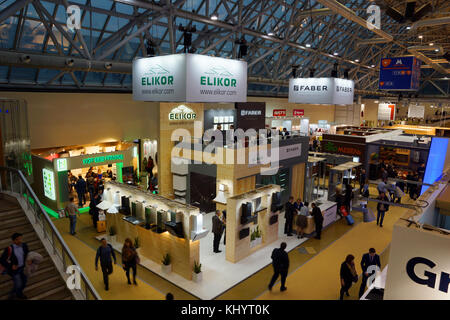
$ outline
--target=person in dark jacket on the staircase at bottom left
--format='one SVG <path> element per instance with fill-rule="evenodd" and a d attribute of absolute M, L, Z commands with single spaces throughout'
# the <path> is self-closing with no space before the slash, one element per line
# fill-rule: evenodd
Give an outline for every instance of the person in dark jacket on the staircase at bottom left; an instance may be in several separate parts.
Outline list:
<path fill-rule="evenodd" d="M 22 242 L 23 235 L 21 233 L 14 233 L 11 237 L 12 244 L 8 246 L 0 257 L 0 263 L 6 269 L 6 273 L 13 280 L 13 289 L 10 292 L 9 298 L 14 296 L 19 299 L 26 299 L 23 290 L 27 285 L 27 276 L 24 273 L 25 264 L 28 256 L 28 245 Z M 29 264 L 32 263 L 30 260 Z"/>

